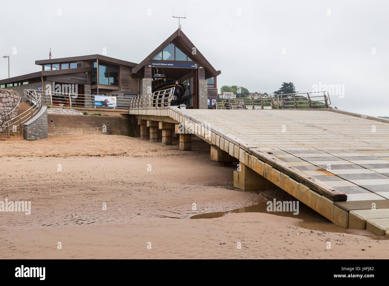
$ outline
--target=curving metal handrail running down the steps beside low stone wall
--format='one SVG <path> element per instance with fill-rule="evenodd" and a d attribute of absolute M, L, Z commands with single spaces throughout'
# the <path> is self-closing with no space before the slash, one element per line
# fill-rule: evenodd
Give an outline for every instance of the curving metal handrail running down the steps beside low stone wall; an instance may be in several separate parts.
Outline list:
<path fill-rule="evenodd" d="M 19 126 L 19 131 L 23 131 L 23 124 L 32 119 L 42 108 L 42 100 L 37 93 L 30 89 L 25 89 L 23 92 L 26 99 L 31 102 L 32 106 L 25 112 L 18 114 L 18 116 L 15 116 L 5 122 L 5 130 L 7 130 L 8 138 L 11 137 L 11 129 L 13 130 L 12 132 L 16 132 Z"/>

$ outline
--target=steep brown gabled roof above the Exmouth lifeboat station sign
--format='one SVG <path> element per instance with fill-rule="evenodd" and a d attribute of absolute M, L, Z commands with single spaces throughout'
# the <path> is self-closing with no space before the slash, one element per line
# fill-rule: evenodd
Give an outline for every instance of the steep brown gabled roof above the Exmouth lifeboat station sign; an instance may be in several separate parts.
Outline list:
<path fill-rule="evenodd" d="M 151 54 L 149 54 L 143 61 L 141 61 L 135 68 L 132 69 L 132 74 L 136 74 L 141 68 L 143 68 L 149 61 L 154 58 L 163 48 L 170 44 L 173 40 L 179 42 L 179 44 L 184 47 L 187 51 L 192 52 L 192 48 L 196 47 L 182 32 L 182 30 L 177 29 L 170 37 L 168 37 L 161 45 L 159 45 Z M 196 54 L 190 54 L 190 58 L 193 61 L 198 61 L 200 66 L 205 67 L 209 71 L 209 76 L 217 76 L 221 74 L 220 70 L 215 70 L 214 67 L 207 61 L 207 59 L 200 53 L 196 47 Z M 207 75 L 206 75 L 207 77 Z"/>

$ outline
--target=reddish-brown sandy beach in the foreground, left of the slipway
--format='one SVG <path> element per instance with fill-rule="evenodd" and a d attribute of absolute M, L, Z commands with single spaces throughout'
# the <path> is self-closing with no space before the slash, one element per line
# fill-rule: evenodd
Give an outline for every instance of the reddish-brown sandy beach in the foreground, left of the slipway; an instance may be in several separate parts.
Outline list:
<path fill-rule="evenodd" d="M 2 258 L 389 256 L 389 240 L 302 204 L 297 216 L 264 211 L 272 198 L 293 198 L 278 188 L 234 190 L 234 167 L 210 161 L 201 140 L 178 149 L 117 135 L 0 142 L 0 200 L 32 205 L 30 215 L 0 212 Z"/>

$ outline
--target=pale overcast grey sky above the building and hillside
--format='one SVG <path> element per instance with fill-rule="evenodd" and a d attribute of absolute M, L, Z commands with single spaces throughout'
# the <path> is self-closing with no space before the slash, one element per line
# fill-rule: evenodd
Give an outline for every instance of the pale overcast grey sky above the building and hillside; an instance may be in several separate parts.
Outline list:
<path fill-rule="evenodd" d="M 174 7 L 174 9 L 173 9 Z M 10 76 L 35 60 L 103 54 L 142 61 L 178 28 L 216 70 L 217 87 L 326 89 L 338 109 L 389 116 L 389 1 L 2 2 L 0 55 Z M 0 58 L 0 79 L 8 61 Z"/>

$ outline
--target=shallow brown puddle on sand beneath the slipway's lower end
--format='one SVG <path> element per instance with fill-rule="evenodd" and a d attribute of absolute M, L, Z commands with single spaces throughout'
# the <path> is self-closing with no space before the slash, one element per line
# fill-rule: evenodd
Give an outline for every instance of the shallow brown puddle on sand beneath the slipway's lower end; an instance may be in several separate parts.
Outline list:
<path fill-rule="evenodd" d="M 271 188 L 266 190 L 261 190 L 255 193 L 259 193 L 263 197 L 266 198 L 267 201 L 273 201 L 275 198 L 277 201 L 297 201 L 296 198 L 292 197 L 288 193 L 286 193 L 284 190 L 280 188 Z M 310 230 L 317 230 L 322 232 L 338 232 L 338 233 L 348 233 L 348 234 L 354 234 L 354 235 L 364 235 L 369 237 L 370 239 L 376 239 L 376 240 L 384 240 L 385 237 L 377 236 L 372 232 L 368 232 L 367 230 L 355 230 L 355 229 L 349 229 L 345 228 L 340 225 L 336 225 L 335 223 L 332 223 L 328 219 L 324 218 L 321 214 L 318 212 L 315 212 L 313 209 L 308 207 L 307 205 L 299 202 L 299 213 L 293 214 L 293 212 L 268 212 L 266 208 L 268 205 L 266 202 L 261 202 L 259 204 L 255 205 L 249 205 L 247 207 L 241 207 L 239 209 L 234 209 L 232 211 L 225 211 L 225 212 L 208 212 L 205 214 L 196 214 L 195 216 L 191 216 L 191 219 L 201 219 L 201 218 L 220 218 L 222 216 L 232 214 L 232 213 L 242 213 L 242 212 L 262 212 L 267 214 L 274 214 L 276 216 L 286 216 L 291 218 L 298 218 L 301 219 L 301 221 L 298 223 L 299 226 L 303 228 L 307 228 Z"/>

